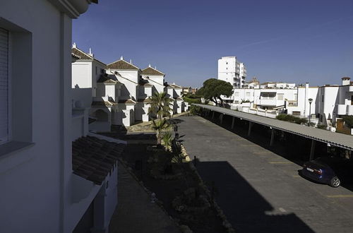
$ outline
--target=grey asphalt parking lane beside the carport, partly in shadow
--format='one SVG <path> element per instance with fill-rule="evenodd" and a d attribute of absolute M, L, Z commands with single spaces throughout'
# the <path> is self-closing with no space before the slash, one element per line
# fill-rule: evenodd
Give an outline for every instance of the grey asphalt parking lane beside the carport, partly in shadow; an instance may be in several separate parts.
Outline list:
<path fill-rule="evenodd" d="M 237 232 L 353 232 L 352 191 L 303 179 L 299 165 L 202 117 L 179 119 L 187 152 Z"/>

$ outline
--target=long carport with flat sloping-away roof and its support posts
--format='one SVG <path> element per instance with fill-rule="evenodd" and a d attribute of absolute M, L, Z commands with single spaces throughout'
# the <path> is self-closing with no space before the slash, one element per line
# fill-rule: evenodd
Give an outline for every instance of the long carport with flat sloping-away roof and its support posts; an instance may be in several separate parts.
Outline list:
<path fill-rule="evenodd" d="M 270 129 L 272 129 L 270 145 L 273 145 L 273 141 L 275 139 L 275 130 L 292 133 L 304 138 L 309 138 L 311 140 L 311 152 L 310 152 L 309 160 L 313 159 L 316 141 L 327 143 L 327 145 L 333 145 L 338 148 L 343 148 L 345 150 L 353 150 L 353 137 L 346 134 L 333 133 L 331 131 L 316 129 L 309 126 L 290 123 L 287 121 L 280 121 L 280 120 L 271 119 L 268 117 L 261 117 L 258 115 L 249 114 L 245 112 L 237 112 L 232 109 L 225 109 L 223 107 L 215 107 L 215 106 L 205 105 L 205 104 L 193 104 L 193 105 L 202 107 L 203 109 L 208 110 L 208 114 L 212 112 L 213 118 L 215 117 L 214 113 L 219 112 L 221 124 L 222 124 L 223 115 L 228 115 L 232 117 L 232 126 L 231 126 L 232 129 L 234 129 L 235 118 L 249 121 L 248 136 L 251 136 L 251 127 L 253 126 L 254 123 L 261 124 L 263 126 L 268 126 Z"/>

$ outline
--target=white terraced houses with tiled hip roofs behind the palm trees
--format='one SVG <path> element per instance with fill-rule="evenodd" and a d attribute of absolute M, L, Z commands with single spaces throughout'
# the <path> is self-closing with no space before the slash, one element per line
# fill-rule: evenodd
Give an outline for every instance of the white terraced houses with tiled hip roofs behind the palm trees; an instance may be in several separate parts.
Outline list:
<path fill-rule="evenodd" d="M 136 121 L 150 121 L 148 109 L 153 92 L 167 92 L 172 98 L 172 112 L 184 112 L 188 106 L 181 98 L 179 85 L 165 85 L 165 74 L 150 65 L 142 71 L 124 57 L 111 64 L 95 59 L 73 44 L 78 56 L 72 64 L 73 104 L 89 112 L 90 131 L 110 131 L 111 126 L 131 126 Z M 77 107 L 76 107 L 77 109 Z"/>

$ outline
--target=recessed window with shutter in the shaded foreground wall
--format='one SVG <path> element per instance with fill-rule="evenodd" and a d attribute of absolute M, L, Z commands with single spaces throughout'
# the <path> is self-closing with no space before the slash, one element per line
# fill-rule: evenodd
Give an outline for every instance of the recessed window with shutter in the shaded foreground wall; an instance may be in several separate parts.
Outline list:
<path fill-rule="evenodd" d="M 34 145 L 32 44 L 30 31 L 0 17 L 0 157 Z"/>

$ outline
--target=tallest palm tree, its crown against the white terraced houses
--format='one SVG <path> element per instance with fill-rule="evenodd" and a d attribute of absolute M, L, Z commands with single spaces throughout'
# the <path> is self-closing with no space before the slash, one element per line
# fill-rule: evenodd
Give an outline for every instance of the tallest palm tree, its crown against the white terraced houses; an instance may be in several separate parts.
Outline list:
<path fill-rule="evenodd" d="M 163 115 L 170 116 L 170 106 L 172 99 L 167 96 L 166 92 L 153 92 L 152 96 L 148 97 L 151 106 L 148 113 L 156 114 L 158 119 L 162 119 Z"/>

